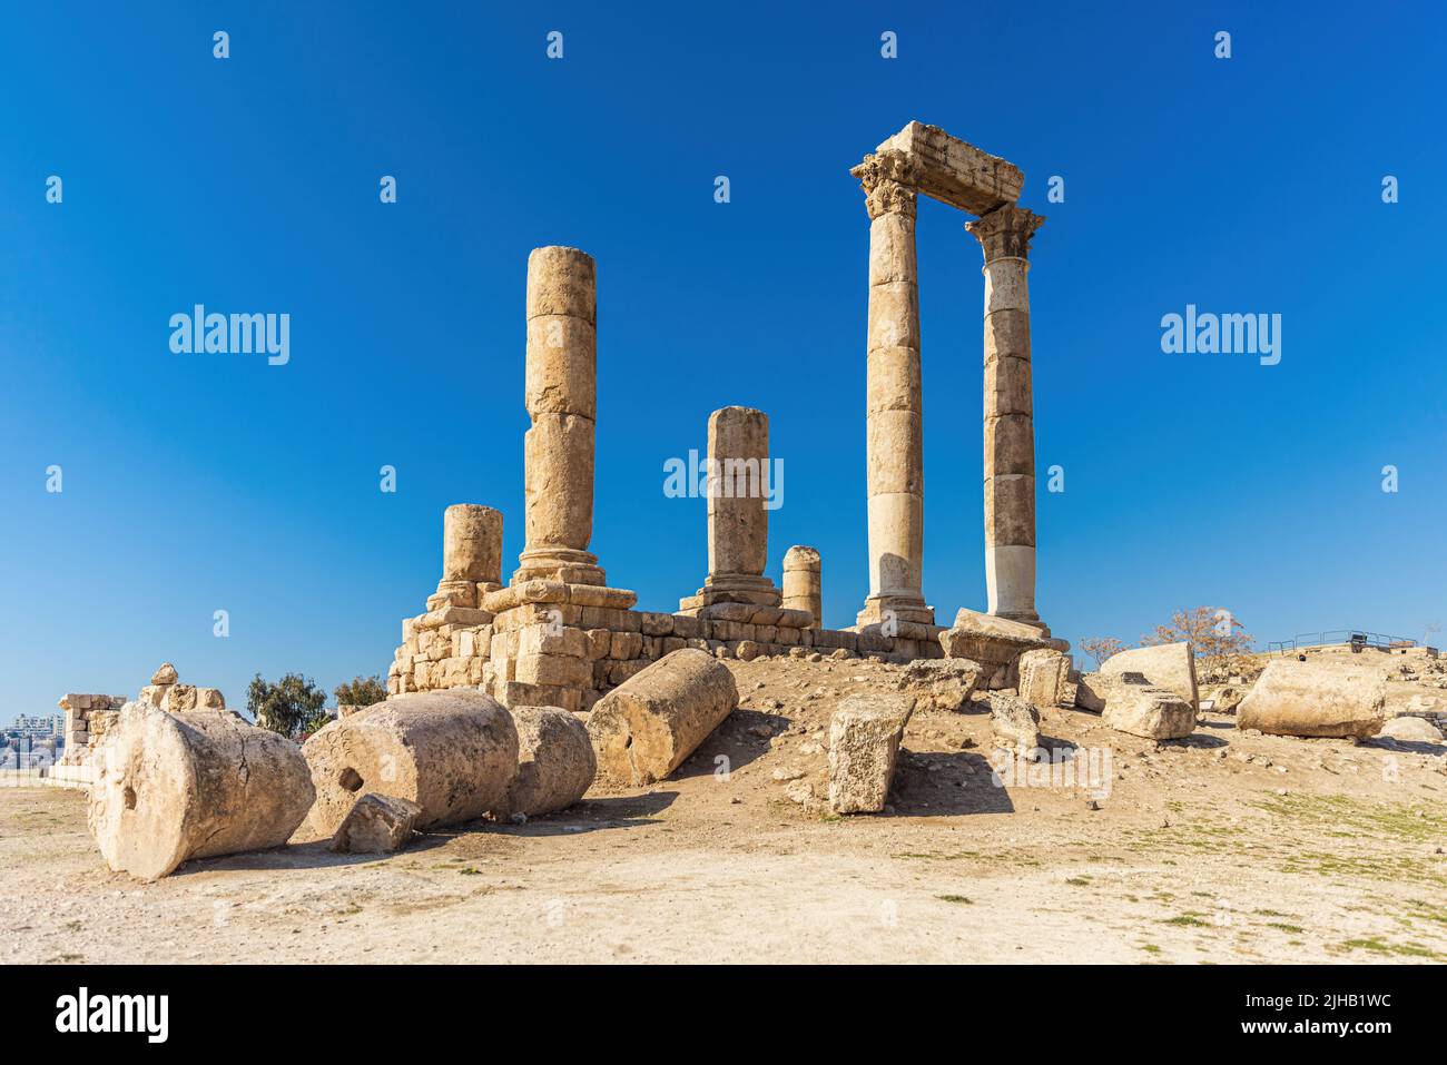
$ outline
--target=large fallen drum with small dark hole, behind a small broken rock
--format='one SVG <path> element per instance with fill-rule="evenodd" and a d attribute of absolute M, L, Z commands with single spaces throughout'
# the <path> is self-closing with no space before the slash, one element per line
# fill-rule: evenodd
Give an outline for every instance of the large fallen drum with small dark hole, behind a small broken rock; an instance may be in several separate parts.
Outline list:
<path fill-rule="evenodd" d="M 315 835 L 333 835 L 372 792 L 421 806 L 421 829 L 501 807 L 518 768 L 518 732 L 491 696 L 456 689 L 392 696 L 324 726 L 301 752 L 317 789 L 307 818 Z"/>

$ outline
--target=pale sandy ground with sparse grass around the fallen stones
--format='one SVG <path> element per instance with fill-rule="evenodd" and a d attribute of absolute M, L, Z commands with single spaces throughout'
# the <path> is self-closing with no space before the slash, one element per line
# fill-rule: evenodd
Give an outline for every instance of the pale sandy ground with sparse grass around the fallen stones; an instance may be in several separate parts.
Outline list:
<path fill-rule="evenodd" d="M 304 844 L 137 884 L 81 793 L 0 790 L 0 962 L 1447 961 L 1441 745 L 1207 715 L 1158 748 L 1048 710 L 1074 761 L 1000 787 L 972 705 L 916 713 L 891 812 L 841 819 L 829 713 L 901 670 L 731 667 L 742 706 L 674 780 L 386 858 Z"/>

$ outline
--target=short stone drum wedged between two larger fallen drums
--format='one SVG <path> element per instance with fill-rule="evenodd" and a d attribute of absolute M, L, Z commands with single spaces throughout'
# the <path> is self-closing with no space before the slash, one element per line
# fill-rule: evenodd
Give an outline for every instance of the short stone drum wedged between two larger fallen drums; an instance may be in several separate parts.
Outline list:
<path fill-rule="evenodd" d="M 598 774 L 587 726 L 557 706 L 514 706 L 508 712 L 518 729 L 518 774 L 504 810 L 540 818 L 582 799 Z"/>

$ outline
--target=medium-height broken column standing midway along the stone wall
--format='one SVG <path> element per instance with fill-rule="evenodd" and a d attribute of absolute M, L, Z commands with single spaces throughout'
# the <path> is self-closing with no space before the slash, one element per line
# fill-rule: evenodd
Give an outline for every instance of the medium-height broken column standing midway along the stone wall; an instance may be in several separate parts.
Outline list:
<path fill-rule="evenodd" d="M 764 576 L 768 563 L 768 415 L 725 407 L 709 415 L 708 514 L 709 574 L 690 611 L 713 603 L 777 606 L 778 589 Z"/>

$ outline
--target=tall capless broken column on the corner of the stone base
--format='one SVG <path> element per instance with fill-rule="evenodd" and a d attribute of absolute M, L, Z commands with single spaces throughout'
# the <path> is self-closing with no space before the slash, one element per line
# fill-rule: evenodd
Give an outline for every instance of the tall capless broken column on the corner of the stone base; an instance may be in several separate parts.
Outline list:
<path fill-rule="evenodd" d="M 524 443 L 527 546 L 512 583 L 602 585 L 593 538 L 593 424 L 598 418 L 598 278 L 576 247 L 528 256 Z"/>

